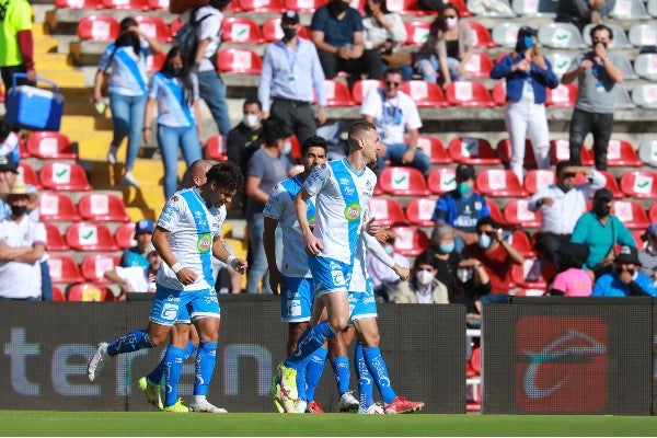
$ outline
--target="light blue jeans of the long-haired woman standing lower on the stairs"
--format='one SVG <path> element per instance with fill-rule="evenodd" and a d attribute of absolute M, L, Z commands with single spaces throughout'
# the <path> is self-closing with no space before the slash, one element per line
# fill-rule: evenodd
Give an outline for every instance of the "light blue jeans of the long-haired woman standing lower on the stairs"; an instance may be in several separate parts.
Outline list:
<path fill-rule="evenodd" d="M 177 148 L 181 147 L 187 168 L 200 160 L 200 141 L 196 126 L 173 128 L 158 125 L 158 142 L 164 164 L 164 196 L 169 199 L 177 188 Z"/>

